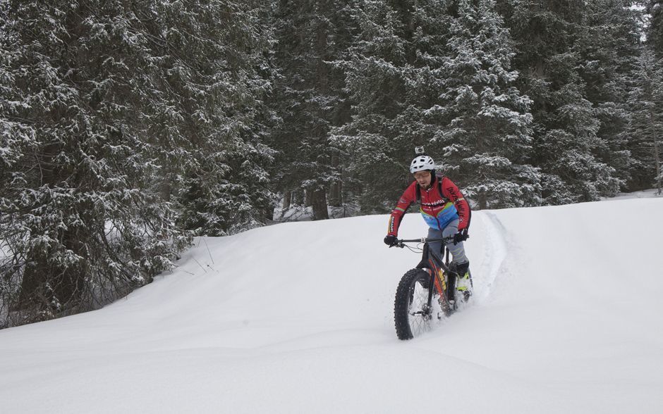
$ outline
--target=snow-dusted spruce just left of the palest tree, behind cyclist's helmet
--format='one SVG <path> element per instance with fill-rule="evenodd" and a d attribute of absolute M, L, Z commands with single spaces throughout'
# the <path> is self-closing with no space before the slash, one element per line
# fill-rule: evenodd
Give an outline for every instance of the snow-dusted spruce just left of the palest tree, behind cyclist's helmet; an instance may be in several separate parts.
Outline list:
<path fill-rule="evenodd" d="M 358 32 L 336 62 L 346 71 L 353 112 L 334 142 L 348 151 L 346 188 L 362 212 L 385 212 L 411 182 L 413 148 L 439 129 L 430 110 L 444 77 L 449 16 L 442 1 L 360 1 L 353 18 Z M 442 153 L 441 146 L 427 150 Z"/>

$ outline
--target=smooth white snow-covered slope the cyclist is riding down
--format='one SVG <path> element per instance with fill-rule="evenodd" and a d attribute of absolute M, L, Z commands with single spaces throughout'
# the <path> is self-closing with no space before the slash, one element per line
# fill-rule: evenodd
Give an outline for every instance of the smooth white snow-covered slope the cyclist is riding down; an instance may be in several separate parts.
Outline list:
<path fill-rule="evenodd" d="M 200 239 L 127 299 L 2 330 L 0 413 L 663 412 L 663 199 L 475 213 L 474 301 L 412 341 L 419 256 L 386 227 Z"/>

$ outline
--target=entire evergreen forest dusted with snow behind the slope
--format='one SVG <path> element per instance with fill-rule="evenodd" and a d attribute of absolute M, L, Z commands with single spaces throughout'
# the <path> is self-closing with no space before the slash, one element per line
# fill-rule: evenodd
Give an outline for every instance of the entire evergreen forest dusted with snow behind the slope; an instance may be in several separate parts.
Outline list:
<path fill-rule="evenodd" d="M 660 193 L 663 0 L 0 0 L 0 328 L 389 213 L 416 146 L 475 209 Z"/>

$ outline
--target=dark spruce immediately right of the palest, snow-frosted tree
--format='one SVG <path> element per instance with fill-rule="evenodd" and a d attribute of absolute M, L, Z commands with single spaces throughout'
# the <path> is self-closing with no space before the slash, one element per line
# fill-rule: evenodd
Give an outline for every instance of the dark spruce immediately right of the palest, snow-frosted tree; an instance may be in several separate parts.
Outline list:
<path fill-rule="evenodd" d="M 596 200 L 614 194 L 620 180 L 600 161 L 601 124 L 578 74 L 583 63 L 573 46 L 583 24 L 584 3 L 504 0 L 501 13 L 516 44 L 513 68 L 519 89 L 533 100 L 532 165 L 541 169 L 546 204 Z"/>

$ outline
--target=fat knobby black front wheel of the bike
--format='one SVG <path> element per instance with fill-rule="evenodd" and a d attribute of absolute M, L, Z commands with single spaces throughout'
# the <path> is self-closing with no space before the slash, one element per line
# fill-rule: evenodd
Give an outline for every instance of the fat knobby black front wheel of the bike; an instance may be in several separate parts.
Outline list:
<path fill-rule="evenodd" d="M 432 308 L 428 303 L 430 275 L 412 269 L 401 277 L 394 301 L 394 324 L 401 340 L 413 339 L 431 330 Z"/>

